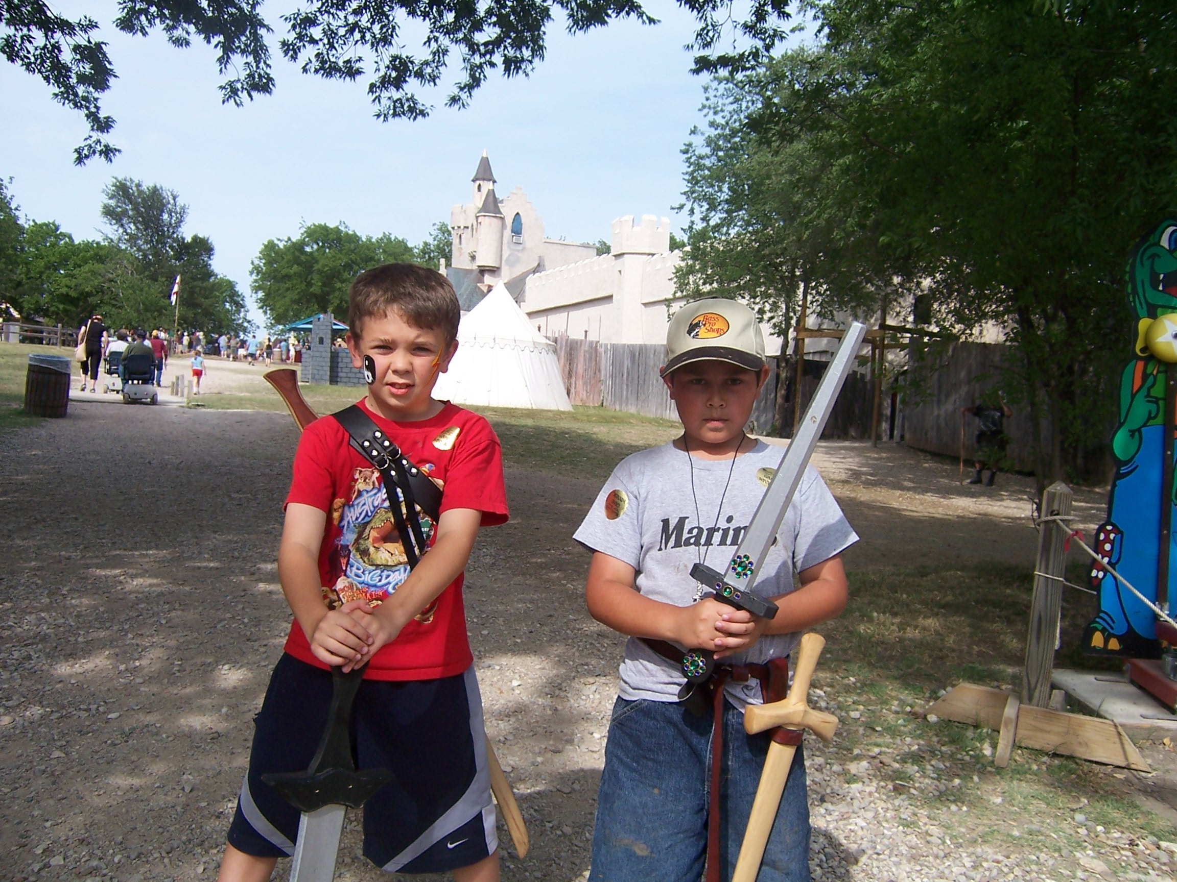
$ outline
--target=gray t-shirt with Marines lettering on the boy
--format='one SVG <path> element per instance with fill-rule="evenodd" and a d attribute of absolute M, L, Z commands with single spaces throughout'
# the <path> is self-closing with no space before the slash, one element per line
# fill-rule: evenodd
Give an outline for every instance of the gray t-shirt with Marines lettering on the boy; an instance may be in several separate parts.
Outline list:
<path fill-rule="evenodd" d="M 763 441 L 734 465 L 689 456 L 673 443 L 641 450 L 613 469 L 574 537 L 590 550 L 632 566 L 637 589 L 646 597 L 690 606 L 697 589 L 691 567 L 703 561 L 719 572 L 726 568 L 783 456 L 782 448 Z M 765 597 L 789 594 L 796 590 L 794 570 L 829 560 L 857 541 L 822 476 L 809 466 L 754 588 Z M 799 634 L 765 635 L 724 662 L 779 659 L 799 639 Z M 685 682 L 677 666 L 636 637 L 625 644 L 620 679 L 620 695 L 627 700 L 676 701 Z M 730 683 L 727 696 L 743 707 L 759 703 L 760 689 L 756 681 Z"/>

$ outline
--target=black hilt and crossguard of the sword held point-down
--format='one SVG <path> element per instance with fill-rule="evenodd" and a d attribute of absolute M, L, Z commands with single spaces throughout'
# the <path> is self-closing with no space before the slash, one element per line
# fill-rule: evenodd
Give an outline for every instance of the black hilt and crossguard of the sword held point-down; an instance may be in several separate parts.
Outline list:
<path fill-rule="evenodd" d="M 364 668 L 347 674 L 331 669 L 331 708 L 319 749 L 306 771 L 267 773 L 261 780 L 300 811 L 324 806 L 360 808 L 370 796 L 392 781 L 388 769 L 355 770 L 352 760 L 352 702 L 364 679 Z"/>

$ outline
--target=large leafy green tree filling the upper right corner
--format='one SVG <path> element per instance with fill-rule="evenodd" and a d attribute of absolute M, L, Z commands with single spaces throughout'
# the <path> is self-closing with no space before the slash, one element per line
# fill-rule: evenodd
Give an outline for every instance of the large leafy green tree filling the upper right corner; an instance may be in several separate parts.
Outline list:
<path fill-rule="evenodd" d="M 693 253 L 712 235 L 730 266 L 779 255 L 827 302 L 927 283 L 942 327 L 1006 329 L 1039 480 L 1089 469 L 1115 417 L 1113 366 L 1131 353 L 1125 255 L 1177 208 L 1175 123 L 1156 113 L 1177 85 L 1171 5 L 813 12 L 818 46 L 734 83 L 750 105 L 720 128 L 750 138 L 730 155 L 697 147 L 691 279 L 712 283 Z M 730 192 L 709 193 L 709 175 Z"/>

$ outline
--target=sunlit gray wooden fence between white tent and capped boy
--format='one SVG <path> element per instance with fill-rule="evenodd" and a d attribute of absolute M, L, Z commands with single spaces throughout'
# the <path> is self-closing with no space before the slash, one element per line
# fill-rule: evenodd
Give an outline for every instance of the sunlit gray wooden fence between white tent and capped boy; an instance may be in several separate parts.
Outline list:
<path fill-rule="evenodd" d="M 660 343 L 603 343 L 559 335 L 556 355 L 564 387 L 573 405 L 606 407 L 645 416 L 678 419 L 674 403 L 658 376 L 666 361 Z M 777 367 L 770 360 L 769 381 L 752 410 L 753 430 L 767 432 L 772 425 L 777 394 Z"/>

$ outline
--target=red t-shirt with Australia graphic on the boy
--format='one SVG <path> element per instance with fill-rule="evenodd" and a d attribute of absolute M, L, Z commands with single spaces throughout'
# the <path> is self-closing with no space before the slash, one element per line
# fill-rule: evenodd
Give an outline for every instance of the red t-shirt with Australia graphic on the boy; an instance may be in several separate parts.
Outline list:
<path fill-rule="evenodd" d="M 359 405 L 418 468 L 441 486 L 443 513 L 473 508 L 483 513 L 484 527 L 506 522 L 503 452 L 484 417 L 447 402 L 428 420 L 393 422 L 372 413 L 363 400 Z M 327 513 L 319 550 L 325 603 L 335 607 L 361 597 L 379 603 L 405 581 L 408 563 L 380 473 L 355 452 L 337 420 L 324 416 L 302 433 L 286 496 L 286 505 L 291 502 Z M 432 546 L 435 524 L 420 508 L 418 515 Z M 394 641 L 381 647 L 365 667 L 364 677 L 432 680 L 468 668 L 474 657 L 466 639 L 461 583 L 459 575 Z M 298 620 L 291 624 L 286 652 L 327 668 L 311 653 Z"/>

